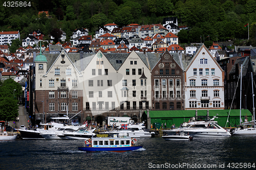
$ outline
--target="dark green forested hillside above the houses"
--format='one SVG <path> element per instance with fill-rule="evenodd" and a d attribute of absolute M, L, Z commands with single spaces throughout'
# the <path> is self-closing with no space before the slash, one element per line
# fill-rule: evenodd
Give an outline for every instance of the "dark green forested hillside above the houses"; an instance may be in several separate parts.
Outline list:
<path fill-rule="evenodd" d="M 247 23 L 251 43 L 256 38 L 256 0 L 32 0 L 27 7 L 3 5 L 1 30 L 19 30 L 22 38 L 38 29 L 50 34 L 54 28 L 65 31 L 67 38 L 76 28 L 88 28 L 93 35 L 106 23 L 147 25 L 162 23 L 168 16 L 177 16 L 179 26 L 190 27 L 180 31 L 181 43 L 200 42 L 201 36 L 208 40 L 208 35 L 211 41 L 247 39 Z M 38 11 L 49 11 L 52 18 L 38 19 Z"/>

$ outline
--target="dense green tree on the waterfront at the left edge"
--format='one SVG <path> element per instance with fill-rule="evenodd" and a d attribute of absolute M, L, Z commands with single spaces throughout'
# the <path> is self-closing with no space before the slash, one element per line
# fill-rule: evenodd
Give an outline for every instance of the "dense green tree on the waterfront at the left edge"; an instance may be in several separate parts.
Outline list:
<path fill-rule="evenodd" d="M 0 119 L 6 123 L 18 116 L 18 99 L 22 94 L 22 86 L 12 79 L 7 79 L 0 86 Z"/>

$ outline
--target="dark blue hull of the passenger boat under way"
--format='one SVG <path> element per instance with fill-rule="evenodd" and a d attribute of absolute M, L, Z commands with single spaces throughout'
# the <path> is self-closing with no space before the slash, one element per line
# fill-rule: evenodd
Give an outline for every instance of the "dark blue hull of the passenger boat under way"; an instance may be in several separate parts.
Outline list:
<path fill-rule="evenodd" d="M 85 152 L 101 152 L 101 151 L 127 152 L 127 151 L 134 151 L 140 148 L 142 148 L 142 145 L 132 146 L 132 147 L 78 147 L 78 150 L 85 151 Z"/>

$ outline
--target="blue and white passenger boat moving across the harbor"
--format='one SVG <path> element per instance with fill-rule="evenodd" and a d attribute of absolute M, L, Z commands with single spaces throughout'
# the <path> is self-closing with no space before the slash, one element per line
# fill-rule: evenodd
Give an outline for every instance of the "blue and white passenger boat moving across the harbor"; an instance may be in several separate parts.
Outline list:
<path fill-rule="evenodd" d="M 137 140 L 131 137 L 92 137 L 84 140 L 83 147 L 78 147 L 78 150 L 86 152 L 127 152 L 140 148 L 142 148 L 142 145 L 137 145 Z"/>

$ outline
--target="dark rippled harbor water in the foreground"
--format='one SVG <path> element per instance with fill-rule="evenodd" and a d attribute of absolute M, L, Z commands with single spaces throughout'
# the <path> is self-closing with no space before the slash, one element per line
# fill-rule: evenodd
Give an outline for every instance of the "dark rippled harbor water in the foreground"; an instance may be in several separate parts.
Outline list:
<path fill-rule="evenodd" d="M 0 169 L 255 169 L 256 136 L 138 138 L 139 151 L 78 151 L 83 140 L 0 142 Z"/>

